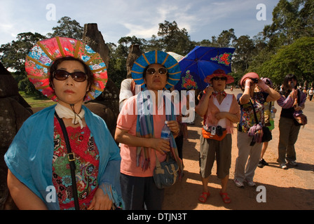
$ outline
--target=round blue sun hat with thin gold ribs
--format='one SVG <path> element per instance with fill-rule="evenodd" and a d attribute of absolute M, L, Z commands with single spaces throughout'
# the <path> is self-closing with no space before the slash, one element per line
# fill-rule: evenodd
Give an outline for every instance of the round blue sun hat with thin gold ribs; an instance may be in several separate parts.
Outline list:
<path fill-rule="evenodd" d="M 165 89 L 170 89 L 180 80 L 181 69 L 177 60 L 166 52 L 152 50 L 139 56 L 132 66 L 132 78 L 137 85 L 144 87 L 143 72 L 150 64 L 161 64 L 168 69 L 169 77 Z"/>

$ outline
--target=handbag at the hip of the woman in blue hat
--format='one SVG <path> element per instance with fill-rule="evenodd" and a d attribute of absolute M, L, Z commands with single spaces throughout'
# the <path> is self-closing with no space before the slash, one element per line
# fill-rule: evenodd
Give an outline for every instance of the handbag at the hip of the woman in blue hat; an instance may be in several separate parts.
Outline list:
<path fill-rule="evenodd" d="M 156 155 L 156 151 L 155 151 Z M 170 153 L 167 153 L 167 158 L 164 162 L 159 162 L 156 155 L 156 168 L 153 171 L 153 180 L 157 188 L 163 189 L 174 185 L 179 179 L 179 166 L 177 161 L 172 158 Z"/>

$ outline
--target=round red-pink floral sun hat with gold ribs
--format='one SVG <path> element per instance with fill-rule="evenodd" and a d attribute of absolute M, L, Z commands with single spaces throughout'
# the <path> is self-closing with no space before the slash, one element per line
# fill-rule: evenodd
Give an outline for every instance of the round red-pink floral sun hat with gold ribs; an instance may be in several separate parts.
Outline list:
<path fill-rule="evenodd" d="M 49 99 L 57 102 L 57 96 L 49 86 L 50 66 L 60 57 L 75 57 L 81 59 L 93 72 L 94 83 L 90 86 L 84 102 L 98 97 L 106 86 L 107 67 L 100 54 L 88 45 L 73 38 L 54 37 L 39 41 L 27 55 L 25 70 L 27 77 Z"/>

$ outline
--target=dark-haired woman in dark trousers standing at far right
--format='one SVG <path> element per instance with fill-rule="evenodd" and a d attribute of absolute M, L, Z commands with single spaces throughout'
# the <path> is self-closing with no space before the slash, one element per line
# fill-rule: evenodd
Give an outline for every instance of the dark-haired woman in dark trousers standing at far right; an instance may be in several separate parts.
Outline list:
<path fill-rule="evenodd" d="M 294 144 L 298 139 L 300 125 L 294 119 L 294 113 L 300 113 L 304 109 L 306 94 L 297 90 L 296 76 L 288 74 L 285 76 L 281 97 L 277 103 L 282 107 L 279 120 L 279 144 L 278 163 L 280 168 L 287 169 L 286 160 L 289 165 L 296 166 L 296 151 Z"/>

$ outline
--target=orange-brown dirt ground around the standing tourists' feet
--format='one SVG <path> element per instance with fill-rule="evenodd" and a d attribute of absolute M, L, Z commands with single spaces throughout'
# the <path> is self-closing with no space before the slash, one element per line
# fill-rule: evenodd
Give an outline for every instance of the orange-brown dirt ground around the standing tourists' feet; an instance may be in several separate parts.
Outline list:
<path fill-rule="evenodd" d="M 230 93 L 230 90 L 227 90 Z M 233 90 L 235 96 L 240 90 Z M 231 197 L 231 204 L 224 204 L 219 196 L 220 180 L 216 176 L 216 164 L 214 164 L 210 176 L 210 197 L 205 204 L 198 201 L 202 191 L 200 181 L 198 152 L 199 137 L 202 119 L 196 115 L 195 125 L 189 125 L 189 139 L 184 139 L 184 177 L 165 190 L 165 210 L 240 210 L 240 209 L 314 209 L 314 101 L 306 102 L 304 113 L 308 116 L 308 125 L 302 128 L 299 139 L 296 142 L 297 167 L 280 169 L 276 162 L 278 156 L 278 119 L 280 107 L 276 104 L 278 113 L 275 118 L 275 130 L 273 140 L 269 142 L 265 153 L 265 160 L 268 167 L 259 168 L 255 172 L 254 181 L 257 187 L 264 186 L 263 193 L 266 193 L 266 202 L 257 202 L 261 197 L 261 191 L 257 188 L 238 188 L 233 183 L 235 159 L 238 156 L 236 146 L 237 134 L 233 134 L 232 162 L 228 181 L 228 194 Z M 263 188 L 263 187 L 260 187 Z M 265 197 L 264 197 L 265 198 Z"/>

